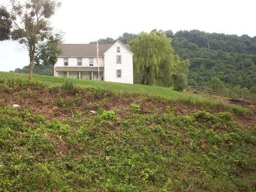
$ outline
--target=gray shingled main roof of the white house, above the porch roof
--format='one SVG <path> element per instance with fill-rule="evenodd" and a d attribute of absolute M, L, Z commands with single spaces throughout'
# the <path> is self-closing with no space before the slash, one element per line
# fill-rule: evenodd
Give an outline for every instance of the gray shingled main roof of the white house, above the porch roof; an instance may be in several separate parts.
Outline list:
<path fill-rule="evenodd" d="M 99 57 L 103 56 L 113 44 L 99 44 Z M 130 49 L 128 44 L 124 44 Z M 96 57 L 96 44 L 59 44 L 62 53 L 59 57 Z"/>

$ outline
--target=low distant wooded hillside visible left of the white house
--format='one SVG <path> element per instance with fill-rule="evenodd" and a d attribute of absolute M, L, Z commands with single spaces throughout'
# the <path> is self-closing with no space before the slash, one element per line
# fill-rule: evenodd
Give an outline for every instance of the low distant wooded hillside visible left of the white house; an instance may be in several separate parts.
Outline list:
<path fill-rule="evenodd" d="M 29 66 L 25 66 L 22 69 L 20 68 L 16 68 L 14 71 L 10 71 L 10 72 L 16 72 L 16 73 L 29 73 Z M 38 74 L 38 75 L 45 75 L 45 76 L 52 76 L 52 72 L 51 72 L 51 65 L 39 65 L 39 66 L 35 66 L 33 69 L 33 73 L 34 74 Z"/>

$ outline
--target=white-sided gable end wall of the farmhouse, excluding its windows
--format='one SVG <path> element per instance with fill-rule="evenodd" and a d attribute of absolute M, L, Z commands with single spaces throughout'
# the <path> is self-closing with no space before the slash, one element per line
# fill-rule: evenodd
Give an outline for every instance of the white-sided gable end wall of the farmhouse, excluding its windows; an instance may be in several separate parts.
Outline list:
<path fill-rule="evenodd" d="M 120 47 L 120 52 L 116 52 L 116 47 Z M 122 63 L 116 64 L 116 55 L 122 56 Z M 128 51 L 120 42 L 116 42 L 104 55 L 104 76 L 105 81 L 133 83 L 133 63 L 132 53 Z M 122 77 L 116 77 L 116 70 L 122 70 Z"/>

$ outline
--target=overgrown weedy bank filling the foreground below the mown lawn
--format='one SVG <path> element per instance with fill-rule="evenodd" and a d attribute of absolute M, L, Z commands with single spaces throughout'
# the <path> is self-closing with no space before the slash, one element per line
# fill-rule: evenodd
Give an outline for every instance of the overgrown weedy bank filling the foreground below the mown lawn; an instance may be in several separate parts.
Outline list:
<path fill-rule="evenodd" d="M 0 82 L 0 192 L 253 192 L 255 116 L 217 106 Z"/>

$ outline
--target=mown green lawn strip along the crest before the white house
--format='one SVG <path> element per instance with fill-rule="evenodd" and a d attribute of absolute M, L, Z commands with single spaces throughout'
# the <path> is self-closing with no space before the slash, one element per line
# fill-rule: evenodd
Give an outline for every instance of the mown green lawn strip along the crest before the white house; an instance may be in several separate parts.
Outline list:
<path fill-rule="evenodd" d="M 0 72 L 0 80 L 10 79 L 10 78 L 21 78 L 28 79 L 28 74 L 15 74 L 9 72 Z M 33 81 L 39 81 L 43 84 L 54 87 L 62 85 L 62 77 L 51 77 L 51 76 L 42 76 L 42 75 L 33 75 Z M 196 100 L 206 100 L 202 97 L 192 95 L 190 93 L 181 93 L 174 91 L 171 88 L 166 87 L 157 87 L 157 86 L 147 86 L 139 84 L 126 84 L 126 83 L 113 83 L 105 81 L 93 81 L 85 79 L 73 79 L 75 86 L 81 87 L 99 87 L 103 89 L 108 89 L 118 92 L 134 93 L 134 94 L 146 94 L 149 96 L 162 96 L 167 99 L 190 99 L 193 101 Z"/>

